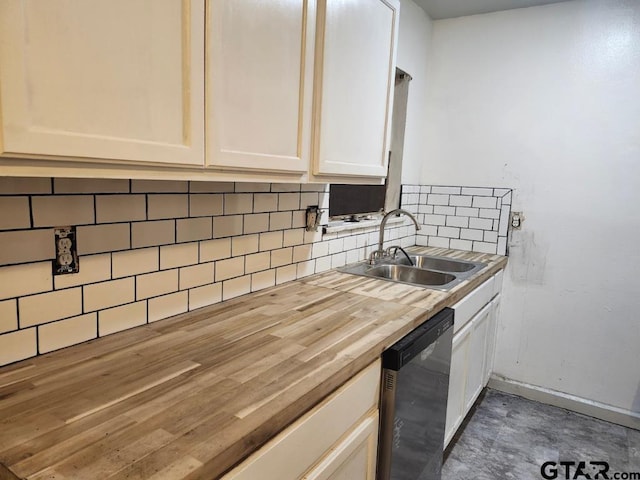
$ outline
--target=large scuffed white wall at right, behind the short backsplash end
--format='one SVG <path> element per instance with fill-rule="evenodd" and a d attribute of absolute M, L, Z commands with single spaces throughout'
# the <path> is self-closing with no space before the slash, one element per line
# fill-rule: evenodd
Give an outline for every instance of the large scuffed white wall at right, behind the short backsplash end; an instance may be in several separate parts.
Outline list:
<path fill-rule="evenodd" d="M 496 371 L 640 412 L 640 2 L 433 22 L 423 184 L 514 188 Z"/>

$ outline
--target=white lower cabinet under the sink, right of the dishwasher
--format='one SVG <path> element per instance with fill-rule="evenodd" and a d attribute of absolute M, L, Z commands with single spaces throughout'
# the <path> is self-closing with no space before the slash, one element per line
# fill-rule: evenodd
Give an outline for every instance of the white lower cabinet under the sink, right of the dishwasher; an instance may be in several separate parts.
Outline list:
<path fill-rule="evenodd" d="M 451 352 L 445 448 L 491 376 L 501 275 L 500 273 L 490 278 L 453 306 L 456 316 Z"/>

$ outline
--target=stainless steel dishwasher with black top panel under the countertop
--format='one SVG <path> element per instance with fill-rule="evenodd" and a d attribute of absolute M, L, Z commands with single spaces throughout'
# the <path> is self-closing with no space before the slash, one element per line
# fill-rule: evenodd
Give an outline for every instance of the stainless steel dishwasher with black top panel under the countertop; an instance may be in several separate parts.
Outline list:
<path fill-rule="evenodd" d="M 453 310 L 445 308 L 382 354 L 377 480 L 439 480 Z"/>

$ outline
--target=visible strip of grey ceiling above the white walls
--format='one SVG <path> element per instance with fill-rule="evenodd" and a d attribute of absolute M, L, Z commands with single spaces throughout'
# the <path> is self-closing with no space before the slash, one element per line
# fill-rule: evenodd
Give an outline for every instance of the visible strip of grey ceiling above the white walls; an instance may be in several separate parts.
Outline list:
<path fill-rule="evenodd" d="M 560 3 L 566 0 L 415 0 L 432 20 Z"/>

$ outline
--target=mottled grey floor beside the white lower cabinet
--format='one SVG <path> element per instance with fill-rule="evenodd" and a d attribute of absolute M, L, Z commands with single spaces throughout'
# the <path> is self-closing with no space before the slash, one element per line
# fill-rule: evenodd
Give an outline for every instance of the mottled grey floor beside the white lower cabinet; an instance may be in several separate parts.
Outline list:
<path fill-rule="evenodd" d="M 442 480 L 540 480 L 543 463 L 560 461 L 587 462 L 592 479 L 601 468 L 592 461 L 609 463 L 608 478 L 640 472 L 640 431 L 486 390 L 445 452 Z M 589 478 L 565 468 L 555 478 Z"/>

